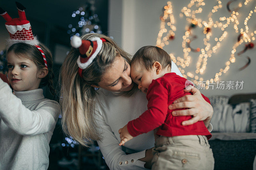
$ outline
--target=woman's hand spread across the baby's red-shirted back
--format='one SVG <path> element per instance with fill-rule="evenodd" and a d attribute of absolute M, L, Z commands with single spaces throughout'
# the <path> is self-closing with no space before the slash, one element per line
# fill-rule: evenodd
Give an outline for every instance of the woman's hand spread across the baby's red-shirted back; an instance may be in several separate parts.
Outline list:
<path fill-rule="evenodd" d="M 188 109 L 175 110 L 172 112 L 172 115 L 193 115 L 193 118 L 191 118 L 190 120 L 183 121 L 182 125 L 191 125 L 198 121 L 204 121 L 205 126 L 208 127 L 213 114 L 212 106 L 204 100 L 199 90 L 195 87 L 190 90 L 184 89 L 184 92 L 191 92 L 193 95 L 182 96 L 181 98 L 175 100 L 173 104 L 169 105 L 169 109 Z"/>

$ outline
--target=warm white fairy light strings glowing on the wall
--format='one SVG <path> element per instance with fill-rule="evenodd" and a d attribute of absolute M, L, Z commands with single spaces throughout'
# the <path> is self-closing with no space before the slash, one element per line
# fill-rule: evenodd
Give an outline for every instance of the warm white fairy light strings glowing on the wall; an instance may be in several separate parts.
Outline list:
<path fill-rule="evenodd" d="M 225 39 L 225 37 L 227 36 L 227 34 L 228 34 L 225 31 L 225 29 L 230 25 L 231 22 L 235 22 L 235 24 L 234 24 L 235 32 L 236 33 L 239 32 L 239 30 L 238 30 L 239 21 L 237 19 L 237 16 L 239 15 L 239 13 L 237 11 L 232 11 L 230 17 L 225 17 L 225 16 L 224 17 L 220 17 L 219 18 L 220 22 L 219 21 L 215 21 L 215 23 L 214 23 L 212 21 L 212 18 L 211 18 L 212 14 L 217 12 L 218 9 L 222 7 L 222 3 L 221 3 L 220 0 L 216 0 L 218 2 L 218 5 L 213 6 L 212 11 L 209 12 L 209 15 L 208 15 L 208 20 L 209 21 L 206 22 L 206 21 L 202 21 L 201 19 L 196 18 L 196 14 L 202 12 L 202 8 L 200 6 L 205 5 L 205 3 L 203 1 L 204 0 L 191 0 L 187 7 L 183 7 L 181 9 L 182 13 L 180 13 L 180 17 L 185 16 L 186 20 L 190 24 L 194 24 L 194 25 L 197 25 L 199 27 L 204 26 L 204 31 L 203 32 L 205 34 L 205 38 L 203 40 L 204 40 L 205 48 L 202 48 L 202 49 L 199 48 L 201 54 L 199 55 L 198 61 L 197 61 L 197 64 L 196 64 L 196 71 L 195 71 L 196 74 L 199 74 L 199 73 L 203 74 L 204 73 L 204 70 L 206 69 L 208 57 L 211 57 L 212 54 L 215 53 L 216 50 L 220 47 L 221 41 L 223 41 Z M 244 5 L 247 5 L 249 3 L 249 1 L 250 0 L 246 0 L 244 2 Z M 167 2 L 167 4 L 168 5 L 165 6 L 165 8 L 164 8 L 165 11 L 167 10 L 166 12 L 164 12 L 164 15 L 167 16 L 167 17 L 168 17 L 168 15 L 170 15 L 170 19 L 171 19 L 171 16 L 172 16 L 171 21 L 173 21 L 173 23 L 168 22 L 169 25 L 168 24 L 167 25 L 170 26 L 170 28 L 171 28 L 171 30 L 169 31 L 169 36 L 170 36 L 171 33 L 174 36 L 174 31 L 176 30 L 176 27 L 172 25 L 172 24 L 174 24 L 174 17 L 172 15 L 171 2 Z M 191 9 L 191 7 L 193 5 L 195 5 L 197 7 L 195 10 Z M 238 7 L 239 8 L 242 7 L 242 3 L 239 3 Z M 209 88 L 208 85 L 210 83 L 219 81 L 219 77 L 221 75 L 223 75 L 224 73 L 227 73 L 227 71 L 229 70 L 229 65 L 231 63 L 235 63 L 235 61 L 236 61 L 235 53 L 237 52 L 236 48 L 239 45 L 241 45 L 243 42 L 251 42 L 251 41 L 255 40 L 255 37 L 253 35 L 256 34 L 256 31 L 254 31 L 251 34 L 248 34 L 249 33 L 249 28 L 247 26 L 247 22 L 252 17 L 253 12 L 256 12 L 256 7 L 255 7 L 254 11 L 250 11 L 248 16 L 245 18 L 245 20 L 244 20 L 244 29 L 245 30 L 244 29 L 240 29 L 240 33 L 242 35 L 241 39 L 240 39 L 240 41 L 238 41 L 238 42 L 236 42 L 234 44 L 234 46 L 233 46 L 233 48 L 231 50 L 231 55 L 230 55 L 229 61 L 226 62 L 225 68 L 220 69 L 219 72 L 215 73 L 214 78 L 211 78 L 210 80 L 206 80 L 205 81 L 206 84 L 202 85 L 202 86 L 205 86 L 206 89 Z M 162 34 L 165 31 L 165 30 L 163 30 L 163 29 L 165 29 L 164 28 L 164 25 L 165 25 L 164 20 L 167 17 L 163 17 L 162 18 L 162 22 L 161 22 L 161 30 L 162 31 L 161 30 L 159 31 L 160 34 L 158 34 L 158 38 L 157 38 L 156 46 L 160 47 L 160 48 L 163 48 L 164 44 L 166 44 L 165 42 L 168 42 L 168 39 L 169 39 L 169 36 L 166 36 L 166 37 L 163 38 L 163 42 L 161 41 Z M 225 22 L 222 23 L 222 21 L 225 21 L 226 23 Z M 210 38 L 212 36 L 212 33 L 209 31 L 212 27 L 214 27 L 214 28 L 220 27 L 220 29 L 223 31 L 223 33 L 222 33 L 222 35 L 220 37 L 215 37 L 214 38 L 216 44 L 211 47 L 211 44 L 208 41 L 210 40 Z M 175 28 L 175 30 L 173 28 Z M 199 82 L 202 82 L 204 80 L 202 77 L 199 78 L 197 75 L 194 75 L 194 74 L 192 74 L 190 72 L 185 73 L 185 71 L 183 70 L 185 67 L 189 66 L 190 59 L 191 59 L 191 57 L 189 56 L 189 52 L 191 51 L 191 49 L 186 46 L 186 44 L 191 41 L 191 39 L 189 39 L 189 36 L 191 36 L 191 30 L 189 29 L 189 27 L 186 27 L 186 29 L 188 31 L 186 31 L 185 34 L 182 37 L 183 38 L 183 41 L 182 41 L 183 58 L 181 58 L 181 57 L 177 57 L 176 58 L 172 53 L 170 54 L 170 57 L 171 57 L 172 61 L 174 63 L 176 63 L 176 65 L 178 66 L 178 68 L 179 68 L 179 70 L 182 73 L 184 78 L 188 78 L 189 77 L 189 78 L 191 78 L 192 82 L 194 82 L 195 84 L 198 84 Z M 196 49 L 196 50 L 198 50 L 198 49 Z"/>

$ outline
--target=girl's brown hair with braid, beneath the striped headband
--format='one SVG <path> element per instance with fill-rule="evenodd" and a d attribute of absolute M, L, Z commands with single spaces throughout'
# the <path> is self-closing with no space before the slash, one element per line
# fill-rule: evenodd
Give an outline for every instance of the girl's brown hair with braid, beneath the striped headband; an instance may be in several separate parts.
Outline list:
<path fill-rule="evenodd" d="M 56 91 L 53 87 L 54 74 L 52 70 L 52 64 L 53 64 L 52 53 L 42 43 L 40 43 L 39 46 L 44 51 L 44 55 L 47 61 L 47 68 L 48 68 L 48 74 L 44 78 L 42 78 L 39 88 L 42 88 L 47 85 L 52 95 L 55 95 Z M 21 58 L 26 58 L 33 61 L 37 66 L 37 70 L 43 69 L 45 67 L 44 58 L 41 52 L 36 48 L 36 46 L 19 42 L 19 43 L 13 44 L 11 47 L 8 48 L 7 56 L 8 56 L 8 53 L 10 52 L 13 52 L 15 55 Z"/>

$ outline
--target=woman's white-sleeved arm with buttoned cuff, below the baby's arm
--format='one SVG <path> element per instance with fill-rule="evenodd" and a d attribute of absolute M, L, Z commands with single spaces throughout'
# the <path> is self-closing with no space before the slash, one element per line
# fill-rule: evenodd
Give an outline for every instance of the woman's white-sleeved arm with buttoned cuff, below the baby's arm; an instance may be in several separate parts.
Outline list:
<path fill-rule="evenodd" d="M 100 113 L 96 112 L 98 117 L 98 123 L 101 127 L 102 140 L 97 141 L 100 147 L 100 151 L 109 167 L 110 170 L 145 170 L 144 164 L 148 161 L 148 164 L 151 163 L 151 160 L 148 159 L 149 154 L 146 155 L 146 150 L 126 155 L 122 150 L 122 147 L 119 146 L 119 141 L 113 134 L 111 128 L 104 121 L 104 117 Z M 152 154 L 152 153 L 151 153 Z M 141 161 L 139 160 L 141 159 Z M 125 163 L 127 161 L 127 164 Z M 145 161 L 145 162 L 143 162 Z M 151 164 L 149 165 L 151 166 Z"/>

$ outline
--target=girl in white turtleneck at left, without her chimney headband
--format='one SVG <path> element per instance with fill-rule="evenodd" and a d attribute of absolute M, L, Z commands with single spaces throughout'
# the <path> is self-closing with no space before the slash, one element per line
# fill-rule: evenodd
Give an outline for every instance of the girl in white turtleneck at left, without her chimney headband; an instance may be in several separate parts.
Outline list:
<path fill-rule="evenodd" d="M 45 99 L 52 88 L 52 55 L 39 44 L 15 43 L 7 51 L 8 79 L 0 79 L 0 169 L 47 169 L 49 142 L 60 113 L 58 102 Z"/>

